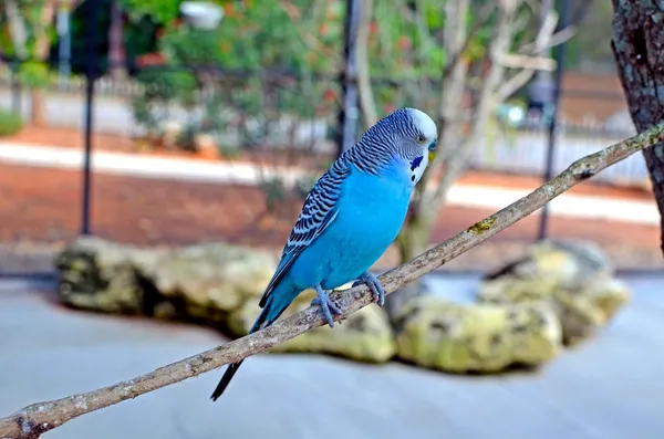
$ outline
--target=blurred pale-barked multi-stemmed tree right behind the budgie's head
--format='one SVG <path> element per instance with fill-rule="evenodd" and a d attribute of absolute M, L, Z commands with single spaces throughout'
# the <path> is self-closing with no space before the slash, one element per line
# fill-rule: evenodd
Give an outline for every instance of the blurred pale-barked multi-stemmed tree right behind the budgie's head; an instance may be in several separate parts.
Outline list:
<path fill-rule="evenodd" d="M 540 9 L 540 2 L 522 0 L 363 2 L 357 63 L 365 126 L 395 106 L 415 105 L 439 128 L 438 157 L 397 238 L 402 261 L 426 250 L 449 188 L 497 127 L 498 105 L 550 65 L 541 55 L 558 36 L 558 15 Z M 387 74 L 398 88 L 381 86 Z M 390 307 L 418 289 L 391 295 Z"/>

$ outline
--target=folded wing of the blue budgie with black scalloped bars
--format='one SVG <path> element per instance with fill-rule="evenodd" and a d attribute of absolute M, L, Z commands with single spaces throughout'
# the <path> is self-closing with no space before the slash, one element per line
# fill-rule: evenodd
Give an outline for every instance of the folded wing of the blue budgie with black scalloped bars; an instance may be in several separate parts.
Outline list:
<path fill-rule="evenodd" d="M 260 299 L 260 307 L 266 305 L 270 293 L 302 250 L 320 237 L 336 218 L 336 201 L 341 196 L 341 187 L 347 175 L 349 169 L 345 163 L 336 160 L 332 168 L 315 182 L 307 196 L 300 217 L 281 253 L 281 261 L 277 266 L 277 271 Z"/>

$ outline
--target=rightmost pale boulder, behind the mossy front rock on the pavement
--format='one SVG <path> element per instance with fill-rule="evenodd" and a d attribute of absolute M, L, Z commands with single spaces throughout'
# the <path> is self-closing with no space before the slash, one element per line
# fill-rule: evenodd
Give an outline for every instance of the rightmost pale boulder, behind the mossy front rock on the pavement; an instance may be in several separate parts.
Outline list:
<path fill-rule="evenodd" d="M 481 303 L 542 303 L 558 315 L 566 345 L 590 337 L 629 300 L 601 249 L 588 242 L 548 241 L 488 274 Z"/>

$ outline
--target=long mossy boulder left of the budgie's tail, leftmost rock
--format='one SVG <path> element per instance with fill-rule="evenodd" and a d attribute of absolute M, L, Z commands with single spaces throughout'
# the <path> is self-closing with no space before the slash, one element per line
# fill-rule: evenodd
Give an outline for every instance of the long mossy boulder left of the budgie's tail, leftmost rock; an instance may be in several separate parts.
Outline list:
<path fill-rule="evenodd" d="M 219 323 L 262 294 L 277 260 L 226 243 L 155 250 L 81 238 L 55 265 L 60 297 L 72 306 Z"/>

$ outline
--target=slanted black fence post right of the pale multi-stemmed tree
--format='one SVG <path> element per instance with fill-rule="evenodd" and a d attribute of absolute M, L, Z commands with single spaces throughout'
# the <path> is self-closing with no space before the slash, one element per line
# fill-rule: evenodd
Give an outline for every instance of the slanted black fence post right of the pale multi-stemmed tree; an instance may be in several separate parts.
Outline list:
<path fill-rule="evenodd" d="M 560 8 L 560 24 L 559 29 L 564 29 L 570 24 L 570 1 L 562 0 Z M 547 146 L 547 157 L 544 163 L 544 181 L 549 181 L 553 177 L 553 158 L 556 156 L 556 135 L 558 133 L 558 113 L 560 106 L 560 94 L 562 88 L 562 75 L 564 72 L 564 46 L 562 42 L 556 48 L 556 76 L 553 87 L 553 112 L 549 118 L 549 138 Z M 549 203 L 542 207 L 540 215 L 539 230 L 537 240 L 542 241 L 548 236 L 549 229 Z"/>

